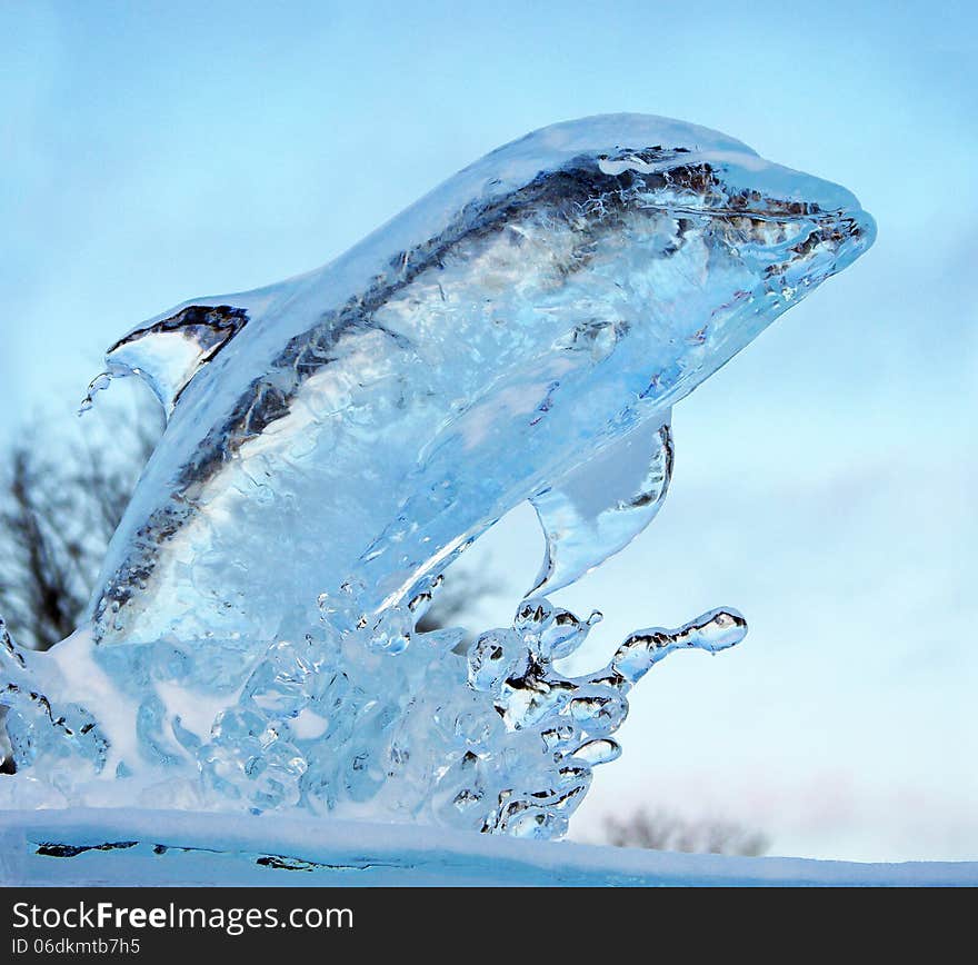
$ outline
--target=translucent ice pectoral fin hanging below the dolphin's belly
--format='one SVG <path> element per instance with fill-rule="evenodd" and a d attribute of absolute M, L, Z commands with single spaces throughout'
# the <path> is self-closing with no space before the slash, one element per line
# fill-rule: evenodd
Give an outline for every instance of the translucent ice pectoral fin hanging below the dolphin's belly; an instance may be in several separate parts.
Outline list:
<path fill-rule="evenodd" d="M 667 417 L 639 426 L 531 497 L 547 550 L 528 595 L 568 586 L 625 549 L 659 511 L 671 475 Z"/>

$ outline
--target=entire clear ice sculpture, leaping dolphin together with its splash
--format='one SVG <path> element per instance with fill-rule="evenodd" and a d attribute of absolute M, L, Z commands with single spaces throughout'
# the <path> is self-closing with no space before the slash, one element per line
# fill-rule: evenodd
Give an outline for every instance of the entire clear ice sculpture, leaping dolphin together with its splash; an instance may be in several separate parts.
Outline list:
<path fill-rule="evenodd" d="M 83 407 L 136 375 L 168 426 L 84 625 L 48 654 L 0 640 L 0 806 L 559 836 L 635 684 L 746 624 L 638 630 L 569 678 L 600 615 L 541 594 L 651 521 L 671 407 L 874 235 L 848 191 L 739 141 L 599 117 L 493 151 L 318 271 L 138 326 Z M 523 500 L 547 553 L 511 626 L 418 633 Z"/>

